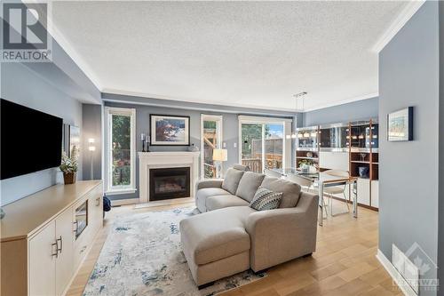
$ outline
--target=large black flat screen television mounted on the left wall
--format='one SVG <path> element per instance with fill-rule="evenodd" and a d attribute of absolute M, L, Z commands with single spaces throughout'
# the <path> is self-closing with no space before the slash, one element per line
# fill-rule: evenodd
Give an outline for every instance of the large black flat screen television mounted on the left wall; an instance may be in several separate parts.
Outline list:
<path fill-rule="evenodd" d="M 0 180 L 59 166 L 63 120 L 0 99 Z"/>

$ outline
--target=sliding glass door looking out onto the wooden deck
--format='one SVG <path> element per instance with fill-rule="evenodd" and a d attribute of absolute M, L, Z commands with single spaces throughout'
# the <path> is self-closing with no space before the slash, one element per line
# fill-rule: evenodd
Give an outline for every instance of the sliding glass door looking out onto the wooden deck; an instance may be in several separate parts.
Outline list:
<path fill-rule="evenodd" d="M 242 164 L 248 165 L 252 172 L 282 168 L 286 160 L 285 152 L 289 153 L 290 150 L 285 149 L 288 144 L 285 129 L 285 122 L 267 123 L 263 119 L 255 122 L 254 118 L 243 122 L 240 120 Z"/>

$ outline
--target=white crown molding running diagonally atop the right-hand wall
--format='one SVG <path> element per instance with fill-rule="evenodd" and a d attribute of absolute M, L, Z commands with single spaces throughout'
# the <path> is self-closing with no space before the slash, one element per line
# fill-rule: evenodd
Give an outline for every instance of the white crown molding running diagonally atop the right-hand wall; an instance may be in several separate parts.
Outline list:
<path fill-rule="evenodd" d="M 392 38 L 400 31 L 402 27 L 411 19 L 417 10 L 425 3 L 425 0 L 414 0 L 409 2 L 406 7 L 398 14 L 396 19 L 392 21 L 389 28 L 385 30 L 383 35 L 379 37 L 377 43 L 371 48 L 372 52 L 381 52 Z"/>

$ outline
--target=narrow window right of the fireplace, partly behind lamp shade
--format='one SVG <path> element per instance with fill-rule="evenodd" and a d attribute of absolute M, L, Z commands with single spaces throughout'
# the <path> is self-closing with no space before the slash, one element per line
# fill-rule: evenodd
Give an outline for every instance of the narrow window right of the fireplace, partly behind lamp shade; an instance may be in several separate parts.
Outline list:
<path fill-rule="evenodd" d="M 201 174 L 202 179 L 218 176 L 213 162 L 213 149 L 222 148 L 222 116 L 201 116 Z"/>

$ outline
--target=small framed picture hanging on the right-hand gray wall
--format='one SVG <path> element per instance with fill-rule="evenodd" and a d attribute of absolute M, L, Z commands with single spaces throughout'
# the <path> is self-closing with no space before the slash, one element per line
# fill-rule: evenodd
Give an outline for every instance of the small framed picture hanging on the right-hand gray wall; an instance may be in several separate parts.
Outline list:
<path fill-rule="evenodd" d="M 413 140 L 413 107 L 403 108 L 387 116 L 387 140 Z"/>

